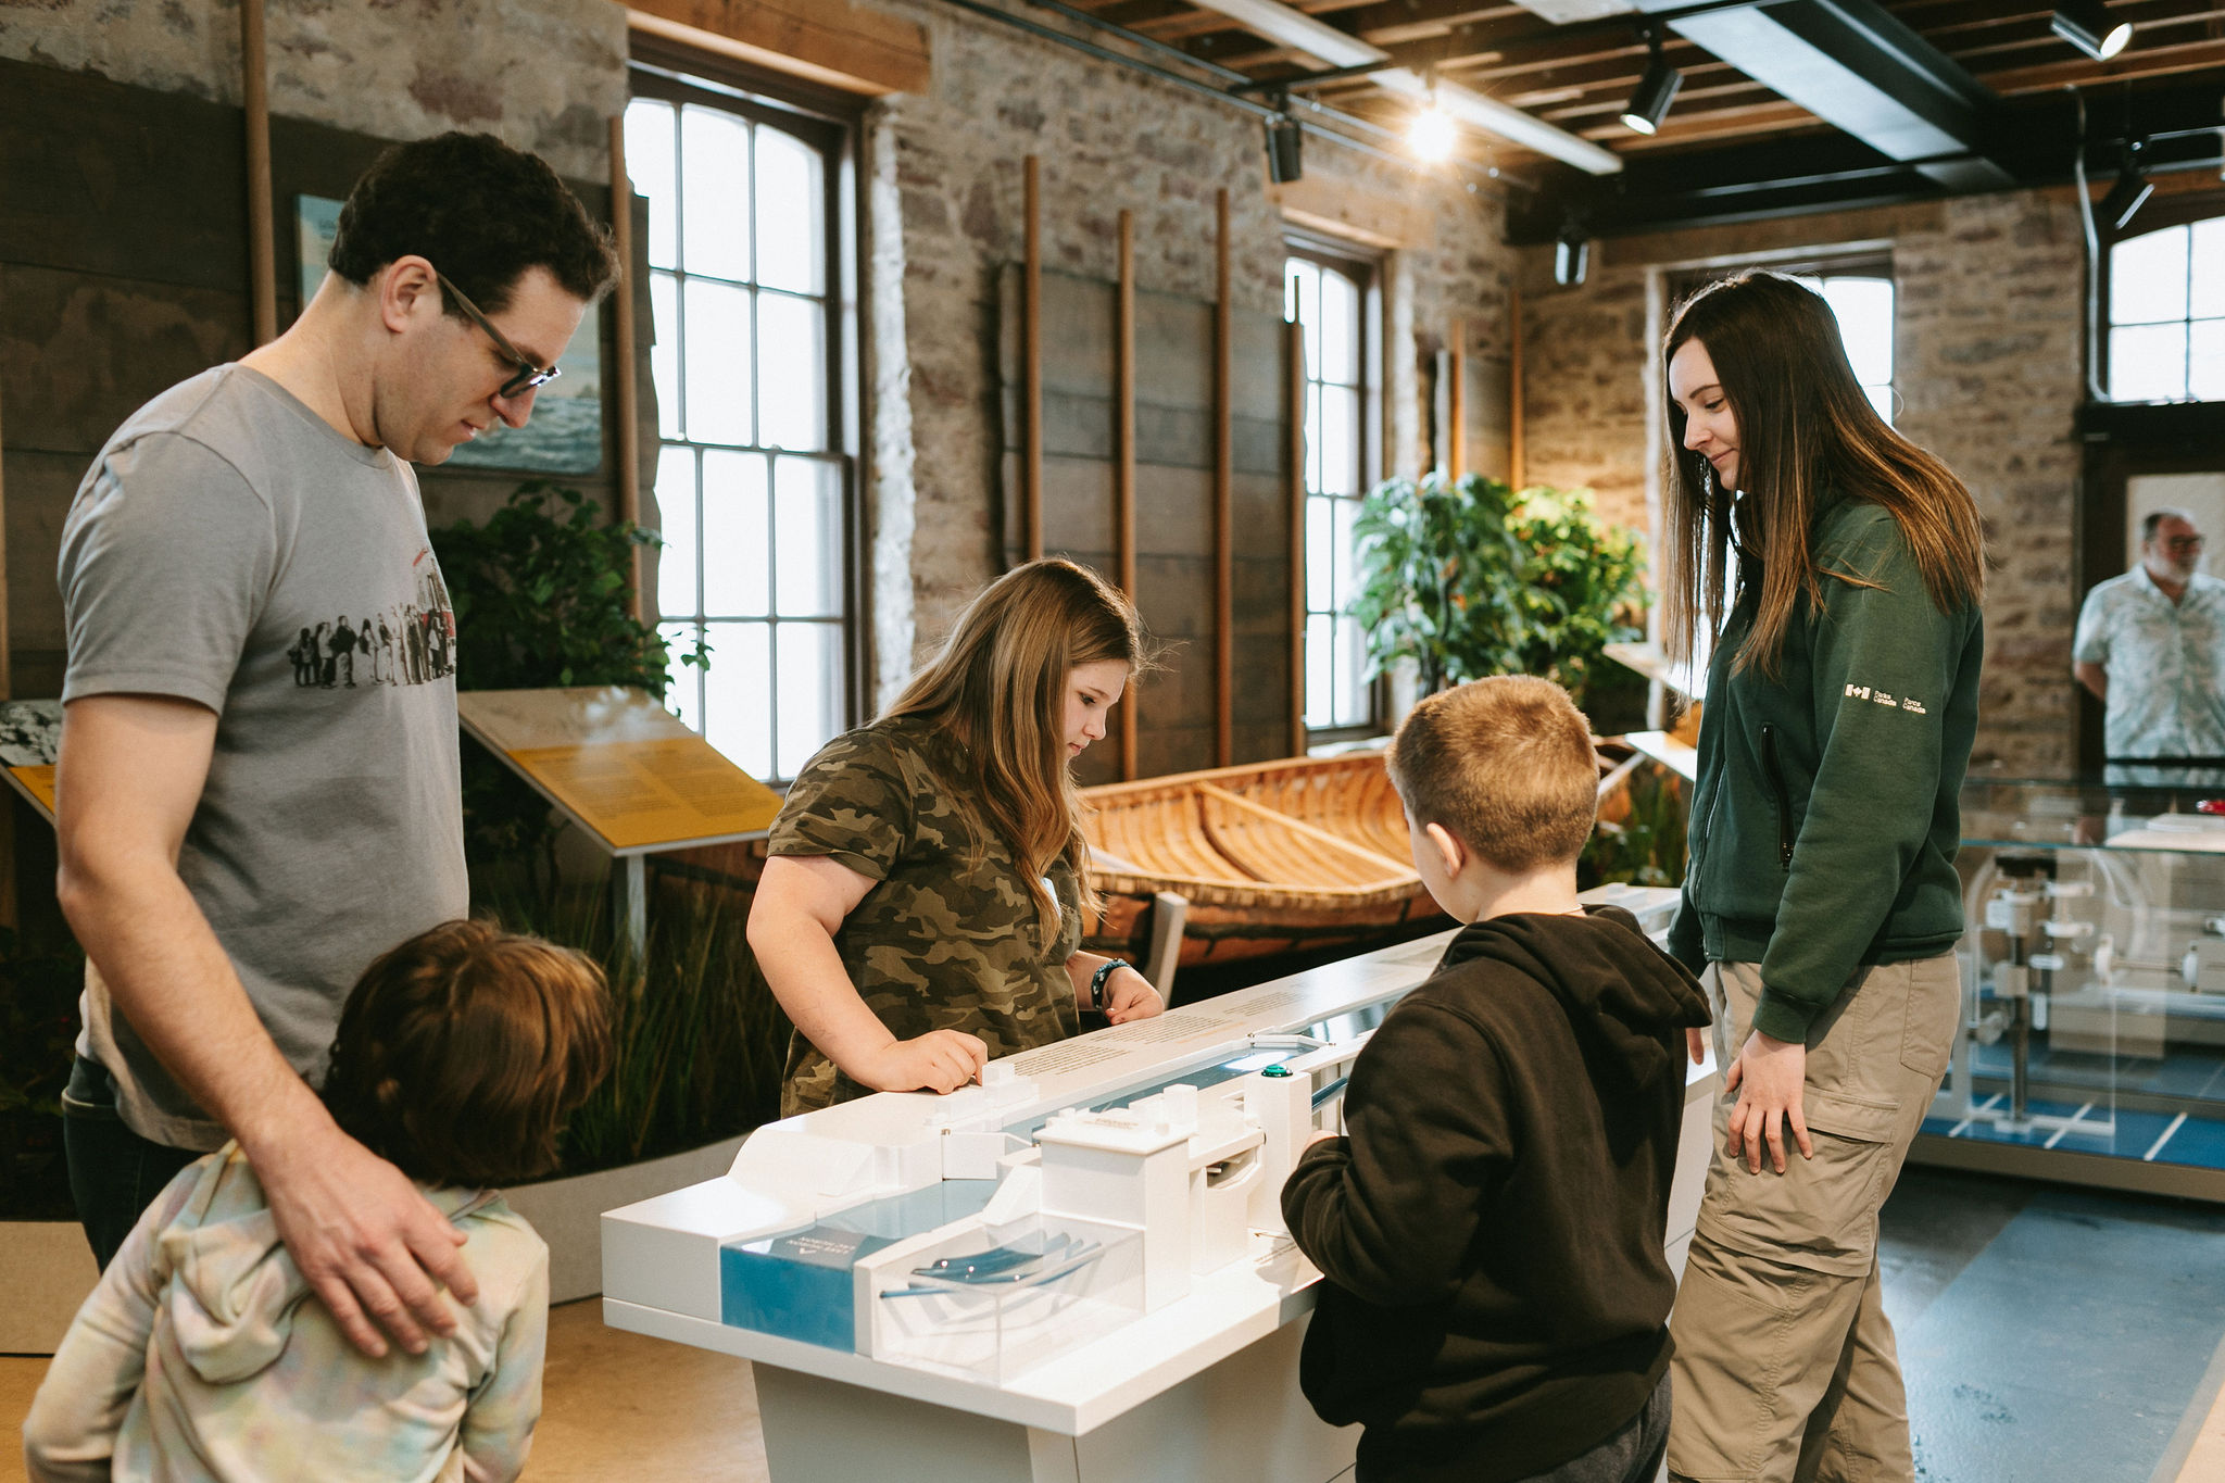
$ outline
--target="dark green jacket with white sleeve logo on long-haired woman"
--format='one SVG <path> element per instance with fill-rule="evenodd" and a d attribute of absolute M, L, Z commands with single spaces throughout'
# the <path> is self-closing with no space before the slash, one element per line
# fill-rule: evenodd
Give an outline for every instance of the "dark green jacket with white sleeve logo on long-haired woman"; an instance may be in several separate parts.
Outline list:
<path fill-rule="evenodd" d="M 1693 972 L 1760 963 L 1753 1027 L 1778 1041 L 1807 1041 L 1860 967 L 1931 958 L 1962 936 L 1958 794 L 1985 654 L 1978 609 L 1931 603 L 1878 505 L 1824 507 L 1809 549 L 1822 611 L 1793 614 L 1778 678 L 1733 671 L 1758 567 L 1715 643 L 1691 863 L 1669 932 Z"/>

